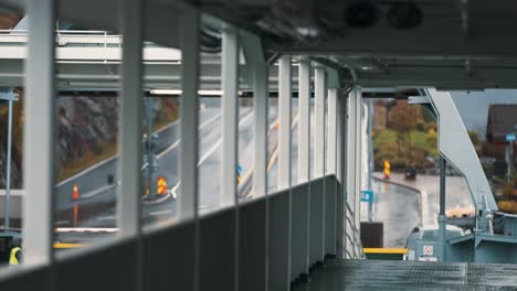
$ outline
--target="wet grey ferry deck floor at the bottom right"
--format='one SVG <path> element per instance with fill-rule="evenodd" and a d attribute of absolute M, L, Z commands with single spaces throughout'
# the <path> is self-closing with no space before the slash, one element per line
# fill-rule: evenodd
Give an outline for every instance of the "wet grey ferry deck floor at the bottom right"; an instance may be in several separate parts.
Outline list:
<path fill-rule="evenodd" d="M 517 290 L 517 266 L 329 260 L 293 291 Z"/>

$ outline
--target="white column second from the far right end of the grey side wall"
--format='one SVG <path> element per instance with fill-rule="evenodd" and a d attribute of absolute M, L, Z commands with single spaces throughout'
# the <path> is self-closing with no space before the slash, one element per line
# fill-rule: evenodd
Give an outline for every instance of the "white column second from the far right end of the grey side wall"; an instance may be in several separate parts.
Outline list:
<path fill-rule="evenodd" d="M 314 69 L 314 176 L 325 175 L 325 100 L 326 100 L 326 76 L 323 66 L 316 66 Z"/>

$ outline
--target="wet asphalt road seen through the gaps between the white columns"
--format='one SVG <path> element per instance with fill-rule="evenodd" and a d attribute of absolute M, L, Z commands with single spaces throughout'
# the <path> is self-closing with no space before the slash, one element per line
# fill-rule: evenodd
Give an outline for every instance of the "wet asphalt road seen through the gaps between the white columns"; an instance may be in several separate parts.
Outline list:
<path fill-rule="evenodd" d="M 213 100 L 210 101 L 213 105 Z M 220 157 L 221 157 L 221 109 L 219 106 L 207 107 L 200 111 L 199 128 L 199 193 L 200 206 L 203 212 L 215 209 L 220 201 Z M 270 123 L 275 121 L 276 108 L 270 109 Z M 240 108 L 239 122 L 239 163 L 243 173 L 253 168 L 251 159 L 253 151 L 254 114 L 251 107 Z M 168 187 L 176 185 L 178 181 L 178 126 L 175 122 L 159 133 L 160 143 L 168 144 L 160 149 L 158 154 L 159 171 L 156 176 L 163 176 L 168 181 Z M 271 132 L 271 134 L 273 134 Z M 274 142 L 273 140 L 271 142 Z M 107 175 L 114 175 L 117 159 L 110 159 L 91 171 L 77 175 L 56 186 L 57 208 L 56 227 L 115 227 L 116 218 L 116 185 L 107 185 Z M 72 201 L 72 185 L 77 183 L 82 198 Z M 83 194 L 86 193 L 86 194 Z M 83 198 L 83 195 L 92 197 Z M 243 193 L 245 195 L 246 193 Z M 181 193 L 178 193 L 181 195 Z M 76 218 L 74 219 L 74 205 L 77 204 Z M 161 203 L 143 206 L 143 223 L 156 224 L 166 222 L 176 215 L 176 201 L 168 198 Z M 61 240 L 82 241 L 94 235 L 61 234 Z"/>

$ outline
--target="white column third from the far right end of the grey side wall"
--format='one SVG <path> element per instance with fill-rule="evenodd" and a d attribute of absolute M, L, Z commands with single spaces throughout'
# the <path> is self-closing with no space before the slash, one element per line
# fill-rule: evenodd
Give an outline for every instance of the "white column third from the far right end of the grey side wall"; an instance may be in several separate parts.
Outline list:
<path fill-rule="evenodd" d="M 310 177 L 310 62 L 299 61 L 298 72 L 298 182 Z"/>

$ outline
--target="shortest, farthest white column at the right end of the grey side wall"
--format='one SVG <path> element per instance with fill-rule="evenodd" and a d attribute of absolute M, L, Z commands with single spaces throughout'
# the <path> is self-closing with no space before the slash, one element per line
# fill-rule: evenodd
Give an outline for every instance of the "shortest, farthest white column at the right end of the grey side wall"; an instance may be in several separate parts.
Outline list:
<path fill-rule="evenodd" d="M 337 176 L 337 91 L 336 88 L 328 89 L 328 159 L 327 159 L 327 173 L 336 174 Z"/>

